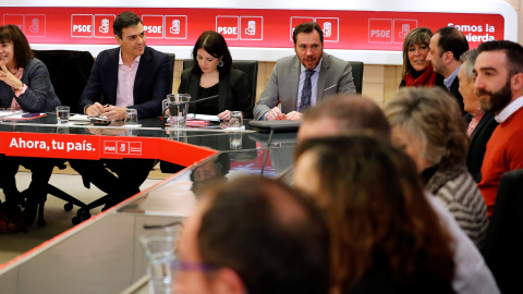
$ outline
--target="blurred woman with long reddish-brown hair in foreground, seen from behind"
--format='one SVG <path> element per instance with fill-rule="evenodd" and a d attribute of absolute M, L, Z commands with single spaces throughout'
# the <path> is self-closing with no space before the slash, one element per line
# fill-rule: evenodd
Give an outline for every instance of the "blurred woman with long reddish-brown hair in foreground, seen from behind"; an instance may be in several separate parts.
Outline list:
<path fill-rule="evenodd" d="M 453 241 L 402 151 L 365 135 L 305 140 L 295 185 L 326 212 L 332 293 L 453 293 Z"/>

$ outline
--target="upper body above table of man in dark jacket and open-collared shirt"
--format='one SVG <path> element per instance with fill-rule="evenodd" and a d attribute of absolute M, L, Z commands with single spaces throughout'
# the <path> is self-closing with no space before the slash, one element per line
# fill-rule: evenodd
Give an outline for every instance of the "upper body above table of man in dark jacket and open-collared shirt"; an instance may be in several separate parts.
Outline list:
<path fill-rule="evenodd" d="M 146 46 L 136 14 L 118 15 L 113 28 L 120 47 L 98 54 L 80 107 L 88 115 L 106 114 L 109 120 L 123 120 L 125 108 L 136 109 L 138 118 L 161 115 L 161 100 L 170 90 L 169 57 Z"/>

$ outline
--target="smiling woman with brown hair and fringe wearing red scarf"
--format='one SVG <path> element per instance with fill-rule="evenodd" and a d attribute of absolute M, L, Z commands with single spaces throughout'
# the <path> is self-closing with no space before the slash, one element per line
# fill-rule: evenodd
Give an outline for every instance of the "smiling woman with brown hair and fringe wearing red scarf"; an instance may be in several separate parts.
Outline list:
<path fill-rule="evenodd" d="M 443 76 L 434 72 L 427 60 L 433 30 L 416 27 L 403 40 L 403 68 L 400 87 L 434 87 L 443 85 Z"/>

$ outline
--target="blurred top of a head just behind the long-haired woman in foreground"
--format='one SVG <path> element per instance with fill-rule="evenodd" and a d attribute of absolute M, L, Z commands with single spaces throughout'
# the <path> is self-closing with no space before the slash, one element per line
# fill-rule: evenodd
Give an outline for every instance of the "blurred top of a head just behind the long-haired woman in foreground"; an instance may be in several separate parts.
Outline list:
<path fill-rule="evenodd" d="M 337 95 L 308 109 L 297 136 L 303 140 L 341 133 L 368 133 L 390 140 L 390 125 L 382 110 L 360 95 Z"/>

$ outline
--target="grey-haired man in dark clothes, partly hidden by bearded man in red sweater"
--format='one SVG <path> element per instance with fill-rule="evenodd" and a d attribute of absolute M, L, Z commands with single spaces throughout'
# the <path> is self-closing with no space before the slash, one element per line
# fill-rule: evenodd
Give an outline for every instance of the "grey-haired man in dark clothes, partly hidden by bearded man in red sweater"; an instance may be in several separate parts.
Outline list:
<path fill-rule="evenodd" d="M 469 125 L 466 134 L 471 138 L 469 155 L 466 157 L 466 167 L 476 183 L 482 181 L 482 164 L 487 142 L 490 138 L 498 123 L 494 120 L 492 112 L 485 112 L 479 107 L 479 98 L 474 91 L 474 64 L 476 63 L 477 50 L 469 50 L 461 56 L 461 70 L 458 73 L 460 81 L 459 90 L 463 96 L 463 103 L 466 114 L 463 120 Z"/>

